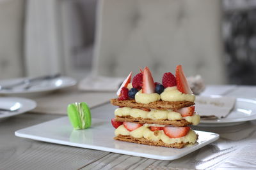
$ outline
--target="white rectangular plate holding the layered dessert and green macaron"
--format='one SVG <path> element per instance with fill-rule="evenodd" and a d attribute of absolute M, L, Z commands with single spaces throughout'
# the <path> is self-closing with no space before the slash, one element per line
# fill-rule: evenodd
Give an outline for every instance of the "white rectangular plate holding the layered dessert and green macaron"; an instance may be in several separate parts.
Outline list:
<path fill-rule="evenodd" d="M 35 139 L 61 145 L 77 146 L 93 150 L 122 153 L 137 157 L 146 157 L 159 160 L 174 160 L 202 148 L 219 138 L 219 134 L 212 132 L 195 131 L 198 141 L 195 145 L 182 149 L 165 148 L 159 146 L 139 145 L 114 140 L 114 131 L 110 121 L 92 119 L 92 127 L 85 130 L 73 130 L 68 117 L 58 118 L 42 124 L 20 129 L 16 136 Z"/>

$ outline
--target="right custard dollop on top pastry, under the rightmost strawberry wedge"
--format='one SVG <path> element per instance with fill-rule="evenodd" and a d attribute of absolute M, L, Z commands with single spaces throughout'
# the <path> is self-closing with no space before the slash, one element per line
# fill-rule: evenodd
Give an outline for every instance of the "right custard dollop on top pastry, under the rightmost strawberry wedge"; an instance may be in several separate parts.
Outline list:
<path fill-rule="evenodd" d="M 195 101 L 195 95 L 193 94 L 182 94 L 176 86 L 167 87 L 161 93 L 162 101 Z"/>

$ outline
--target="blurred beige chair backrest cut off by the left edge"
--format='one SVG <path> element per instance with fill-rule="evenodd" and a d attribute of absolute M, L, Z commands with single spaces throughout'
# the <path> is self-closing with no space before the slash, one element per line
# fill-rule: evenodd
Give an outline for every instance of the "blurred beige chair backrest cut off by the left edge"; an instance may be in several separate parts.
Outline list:
<path fill-rule="evenodd" d="M 24 0 L 0 1 L 0 80 L 24 76 Z"/>

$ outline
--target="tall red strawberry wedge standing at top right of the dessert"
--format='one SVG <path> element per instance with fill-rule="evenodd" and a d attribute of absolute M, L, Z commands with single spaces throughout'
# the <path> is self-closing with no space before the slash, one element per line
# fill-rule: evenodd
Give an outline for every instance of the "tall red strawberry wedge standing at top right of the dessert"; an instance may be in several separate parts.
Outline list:
<path fill-rule="evenodd" d="M 176 67 L 175 76 L 176 76 L 176 81 L 177 81 L 177 89 L 184 94 L 193 94 L 193 92 L 191 91 L 191 89 L 189 87 L 186 76 L 183 73 L 181 65 L 178 65 Z"/>

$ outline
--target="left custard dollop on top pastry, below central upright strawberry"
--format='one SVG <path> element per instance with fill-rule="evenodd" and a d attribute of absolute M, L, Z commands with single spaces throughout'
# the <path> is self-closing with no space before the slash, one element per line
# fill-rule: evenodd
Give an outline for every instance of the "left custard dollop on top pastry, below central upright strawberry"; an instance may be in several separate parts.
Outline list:
<path fill-rule="evenodd" d="M 142 90 L 136 93 L 135 95 L 135 101 L 136 103 L 143 103 L 143 104 L 148 104 L 154 101 L 160 101 L 161 97 L 157 93 L 152 93 L 152 94 L 145 94 L 142 93 Z"/>

